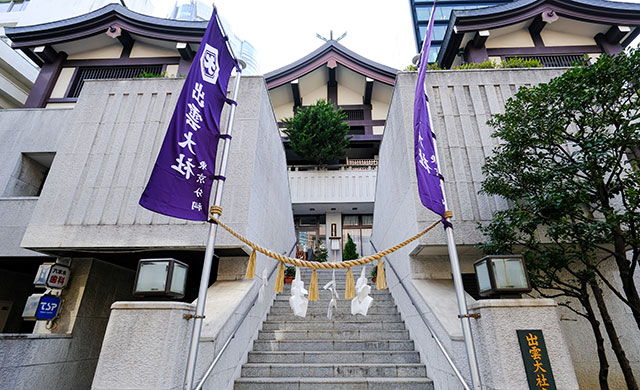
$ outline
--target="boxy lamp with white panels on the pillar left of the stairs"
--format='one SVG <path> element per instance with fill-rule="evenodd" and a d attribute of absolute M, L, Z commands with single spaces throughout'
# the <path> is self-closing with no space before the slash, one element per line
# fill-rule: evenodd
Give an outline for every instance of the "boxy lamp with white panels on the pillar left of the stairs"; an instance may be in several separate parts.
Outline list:
<path fill-rule="evenodd" d="M 176 259 L 143 259 L 138 262 L 138 272 L 133 295 L 141 297 L 184 298 L 189 266 Z"/>

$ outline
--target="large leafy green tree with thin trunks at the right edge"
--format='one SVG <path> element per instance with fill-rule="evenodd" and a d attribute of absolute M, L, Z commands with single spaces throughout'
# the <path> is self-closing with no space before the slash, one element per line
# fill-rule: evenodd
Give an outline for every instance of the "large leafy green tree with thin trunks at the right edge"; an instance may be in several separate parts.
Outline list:
<path fill-rule="evenodd" d="M 640 256 L 640 174 L 634 154 L 640 145 L 638 85 L 640 52 L 634 50 L 603 55 L 548 84 L 521 88 L 505 113 L 489 121 L 502 142 L 484 166 L 483 183 L 485 193 L 513 203 L 493 224 L 504 223 L 515 236 L 492 235 L 495 226 L 489 226 L 489 241 L 515 239 L 512 244 L 525 244 L 536 255 L 556 248 L 548 262 L 536 264 L 529 256 L 534 280 L 541 288 L 578 281 L 578 291 L 593 294 L 630 389 L 637 384 L 616 343 L 599 283 L 629 306 L 640 329 L 633 279 Z M 602 273 L 610 262 L 622 291 Z M 551 284 L 540 283 L 540 275 Z"/>

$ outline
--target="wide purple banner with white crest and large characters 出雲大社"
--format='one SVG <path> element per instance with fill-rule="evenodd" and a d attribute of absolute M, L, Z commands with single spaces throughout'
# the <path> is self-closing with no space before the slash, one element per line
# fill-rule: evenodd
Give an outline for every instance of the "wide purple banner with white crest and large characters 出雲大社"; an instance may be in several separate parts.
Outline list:
<path fill-rule="evenodd" d="M 220 115 L 236 64 L 214 8 L 140 197 L 142 207 L 171 217 L 207 220 Z"/>

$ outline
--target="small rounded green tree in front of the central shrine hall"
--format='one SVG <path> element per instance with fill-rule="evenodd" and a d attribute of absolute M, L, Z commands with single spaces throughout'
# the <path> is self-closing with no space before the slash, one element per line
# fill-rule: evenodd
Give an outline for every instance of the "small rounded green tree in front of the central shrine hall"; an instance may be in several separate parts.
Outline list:
<path fill-rule="evenodd" d="M 345 155 L 351 137 L 347 115 L 333 104 L 318 100 L 315 105 L 300 108 L 293 117 L 285 118 L 284 133 L 298 156 L 315 165 L 324 165 Z"/>

